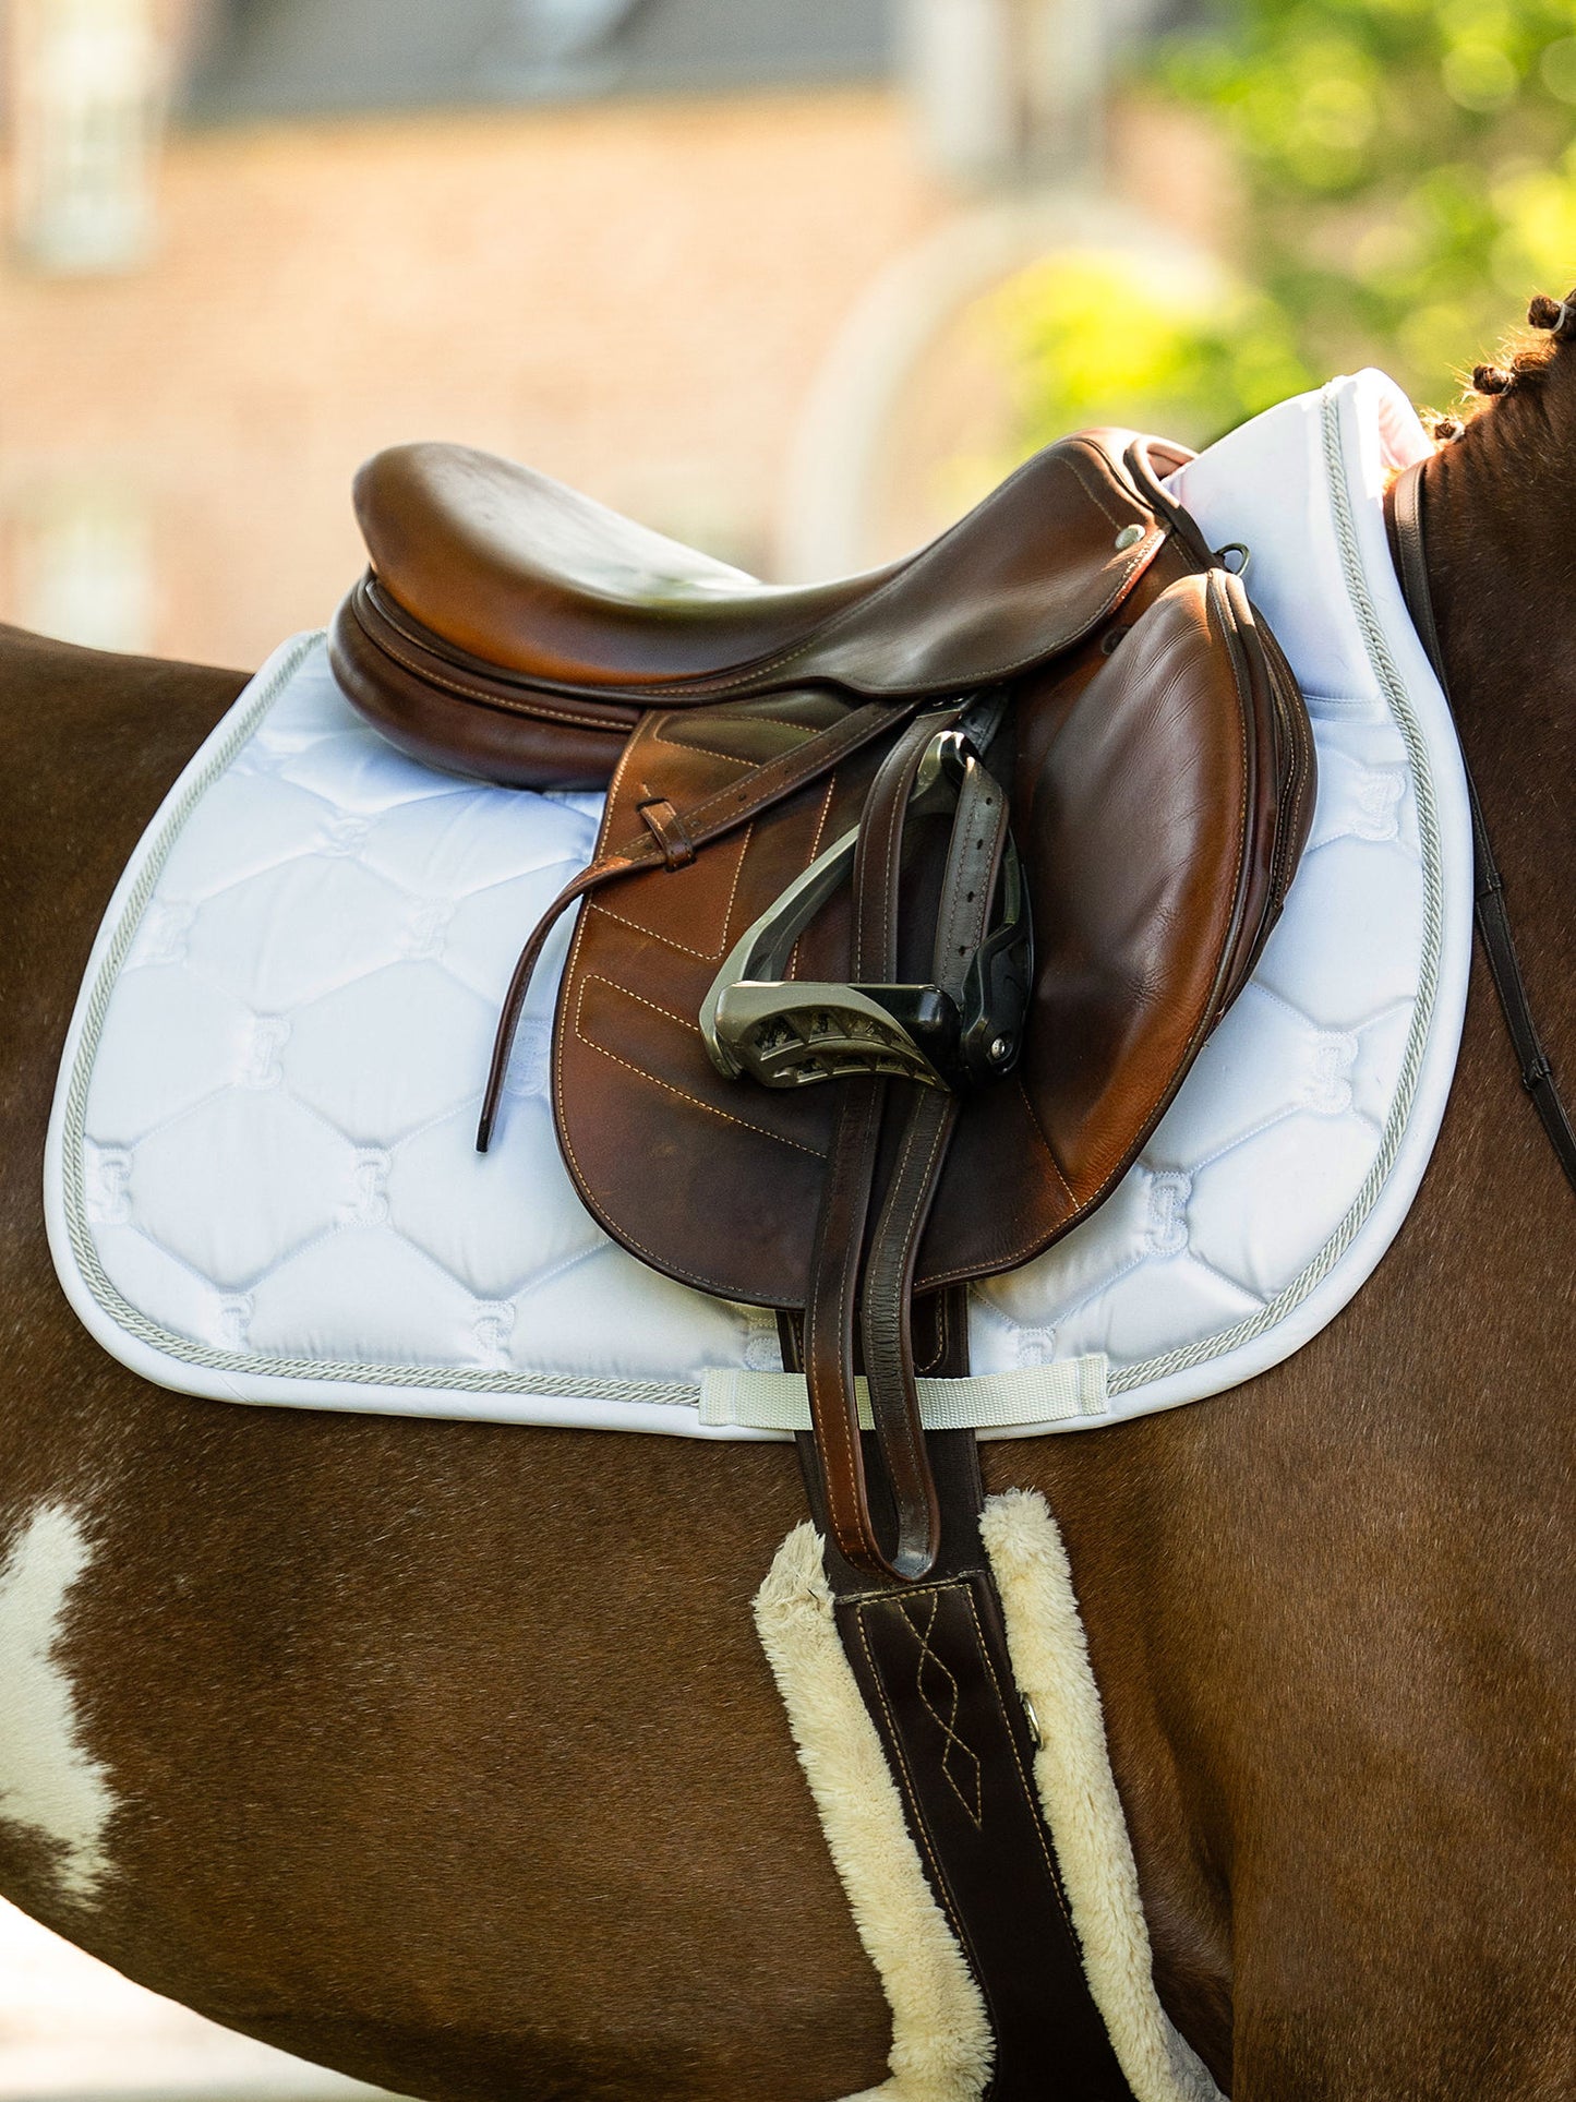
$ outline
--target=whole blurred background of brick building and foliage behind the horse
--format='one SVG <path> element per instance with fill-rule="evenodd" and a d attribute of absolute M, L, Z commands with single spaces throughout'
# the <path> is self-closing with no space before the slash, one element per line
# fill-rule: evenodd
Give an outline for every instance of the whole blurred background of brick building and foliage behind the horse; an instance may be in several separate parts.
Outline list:
<path fill-rule="evenodd" d="M 0 0 L 0 618 L 256 664 L 357 462 L 771 578 L 1576 282 L 1576 0 Z M 0 1799 L 0 1816 L 4 1801 Z M 0 1907 L 0 2102 L 345 2098 Z"/>

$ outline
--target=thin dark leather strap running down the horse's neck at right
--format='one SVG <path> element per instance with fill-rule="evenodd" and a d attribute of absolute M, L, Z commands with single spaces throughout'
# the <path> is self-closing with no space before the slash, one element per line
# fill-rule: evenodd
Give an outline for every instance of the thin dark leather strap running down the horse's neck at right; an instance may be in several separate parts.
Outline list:
<path fill-rule="evenodd" d="M 1433 620 L 1433 597 L 1429 593 L 1429 563 L 1423 538 L 1423 460 L 1414 460 L 1391 490 L 1391 542 L 1397 555 L 1406 610 L 1410 612 L 1412 624 L 1429 654 L 1429 662 L 1433 664 L 1446 704 L 1454 715 L 1444 652 L 1439 650 L 1439 631 Z M 1515 1045 L 1515 1055 L 1521 1066 L 1521 1087 L 1526 1087 L 1532 1097 L 1532 1106 L 1549 1135 L 1555 1158 L 1565 1171 L 1565 1181 L 1572 1190 L 1576 1190 L 1576 1125 L 1572 1125 L 1572 1116 L 1559 1093 L 1559 1083 L 1555 1080 L 1549 1053 L 1538 1036 L 1538 1024 L 1532 1017 L 1532 996 L 1528 994 L 1521 959 L 1515 948 L 1515 933 L 1511 931 L 1511 914 L 1505 904 L 1505 879 L 1500 877 L 1494 860 L 1494 845 L 1488 837 L 1484 805 L 1477 797 L 1477 782 L 1473 780 L 1465 746 L 1460 753 L 1460 769 L 1467 776 L 1467 801 L 1471 805 L 1473 820 L 1477 933 L 1481 935 L 1488 971 L 1500 1001 L 1500 1013 L 1505 1015 L 1505 1026 L 1511 1032 L 1511 1043 Z"/>

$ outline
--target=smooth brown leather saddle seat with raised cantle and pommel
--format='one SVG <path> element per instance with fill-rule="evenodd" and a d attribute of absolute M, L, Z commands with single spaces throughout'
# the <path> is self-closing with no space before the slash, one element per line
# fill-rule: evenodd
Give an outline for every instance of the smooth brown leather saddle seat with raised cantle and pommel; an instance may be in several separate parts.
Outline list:
<path fill-rule="evenodd" d="M 1063 439 L 904 561 L 792 591 L 490 454 L 395 448 L 357 481 L 372 570 L 336 614 L 334 668 L 416 757 L 509 786 L 601 784 L 647 706 L 1017 677 L 1156 557 L 1166 526 L 1128 439 Z"/>

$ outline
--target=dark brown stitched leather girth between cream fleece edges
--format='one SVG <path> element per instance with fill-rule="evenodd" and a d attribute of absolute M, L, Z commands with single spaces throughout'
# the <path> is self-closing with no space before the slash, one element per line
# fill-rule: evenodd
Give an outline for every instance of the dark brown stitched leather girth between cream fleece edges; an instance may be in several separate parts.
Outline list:
<path fill-rule="evenodd" d="M 872 1583 L 832 1539 L 824 1562 L 855 1684 L 920 1867 L 986 2001 L 990 2102 L 1133 2102 L 1084 1974 L 1034 1785 L 1038 1724 L 1013 1677 L 979 1539 L 973 1431 L 931 1431 L 941 1547 L 918 1585 Z M 809 1440 L 801 1461 L 824 1524 Z M 1051 1717 L 1046 1717 L 1051 1722 Z"/>

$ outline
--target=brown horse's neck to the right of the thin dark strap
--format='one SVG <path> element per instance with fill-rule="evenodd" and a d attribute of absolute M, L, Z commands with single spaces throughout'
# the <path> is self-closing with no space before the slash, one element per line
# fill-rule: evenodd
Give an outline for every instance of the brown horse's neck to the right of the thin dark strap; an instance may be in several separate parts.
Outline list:
<path fill-rule="evenodd" d="M 1576 1087 L 1576 345 L 1425 469 L 1450 700 L 1538 1024 Z"/>

